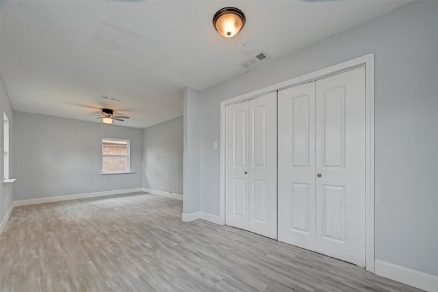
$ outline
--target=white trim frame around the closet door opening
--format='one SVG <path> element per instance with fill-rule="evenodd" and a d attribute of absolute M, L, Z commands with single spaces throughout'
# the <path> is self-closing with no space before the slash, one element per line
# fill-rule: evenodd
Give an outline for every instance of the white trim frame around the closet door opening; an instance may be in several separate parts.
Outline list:
<path fill-rule="evenodd" d="M 374 53 L 351 59 L 220 103 L 220 224 L 225 224 L 225 129 L 226 107 L 263 94 L 316 81 L 365 66 L 365 269 L 374 273 Z"/>

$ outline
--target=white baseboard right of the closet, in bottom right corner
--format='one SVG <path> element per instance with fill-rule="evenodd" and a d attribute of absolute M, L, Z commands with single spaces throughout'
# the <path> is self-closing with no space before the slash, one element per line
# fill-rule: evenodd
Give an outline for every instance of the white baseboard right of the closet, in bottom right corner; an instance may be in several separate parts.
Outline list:
<path fill-rule="evenodd" d="M 438 292 L 438 276 L 376 260 L 376 274 L 430 292 Z"/>

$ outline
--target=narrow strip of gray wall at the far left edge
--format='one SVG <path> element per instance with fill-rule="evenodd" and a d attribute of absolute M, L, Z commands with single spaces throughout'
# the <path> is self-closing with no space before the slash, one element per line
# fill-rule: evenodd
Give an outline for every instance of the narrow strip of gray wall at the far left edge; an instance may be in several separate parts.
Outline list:
<path fill-rule="evenodd" d="M 9 178 L 14 178 L 14 110 L 9 100 L 8 92 L 3 83 L 3 77 L 0 74 L 0 178 L 3 181 L 3 112 L 9 120 Z M 0 222 L 3 221 L 6 213 L 12 204 L 12 191 L 14 184 L 0 185 Z"/>

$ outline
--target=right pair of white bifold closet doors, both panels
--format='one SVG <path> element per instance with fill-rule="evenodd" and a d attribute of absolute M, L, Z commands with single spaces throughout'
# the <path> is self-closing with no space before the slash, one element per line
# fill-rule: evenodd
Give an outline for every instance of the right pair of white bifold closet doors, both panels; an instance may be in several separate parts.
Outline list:
<path fill-rule="evenodd" d="M 279 240 L 365 266 L 365 67 L 278 104 Z"/>

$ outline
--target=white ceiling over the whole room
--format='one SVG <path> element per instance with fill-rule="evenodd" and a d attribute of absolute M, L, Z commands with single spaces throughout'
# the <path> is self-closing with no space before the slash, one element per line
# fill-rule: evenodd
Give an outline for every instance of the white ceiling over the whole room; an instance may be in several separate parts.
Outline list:
<path fill-rule="evenodd" d="M 0 70 L 16 111 L 100 122 L 90 114 L 107 107 L 131 116 L 114 124 L 145 128 L 183 114 L 186 85 L 208 88 L 261 50 L 272 62 L 404 3 L 1 1 Z M 231 5 L 246 25 L 227 39 L 211 18 Z"/>

